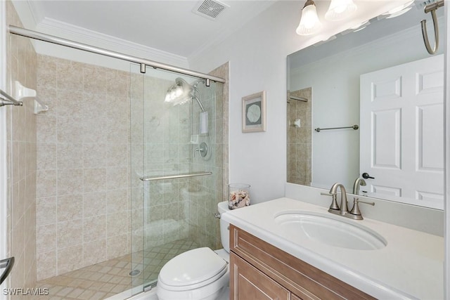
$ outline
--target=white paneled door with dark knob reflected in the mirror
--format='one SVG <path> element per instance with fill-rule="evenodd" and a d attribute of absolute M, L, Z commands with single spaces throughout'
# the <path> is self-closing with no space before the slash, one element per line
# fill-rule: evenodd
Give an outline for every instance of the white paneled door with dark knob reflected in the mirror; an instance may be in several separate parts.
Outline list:
<path fill-rule="evenodd" d="M 444 208 L 444 56 L 362 74 L 360 176 L 368 193 Z"/>

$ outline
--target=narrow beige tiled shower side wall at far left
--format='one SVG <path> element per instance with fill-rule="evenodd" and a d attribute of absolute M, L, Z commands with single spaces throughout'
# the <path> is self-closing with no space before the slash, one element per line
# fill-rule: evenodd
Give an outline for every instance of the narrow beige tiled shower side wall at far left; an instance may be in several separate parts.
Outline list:
<path fill-rule="evenodd" d="M 22 26 L 11 1 L 6 1 L 6 24 Z M 36 89 L 36 53 L 28 39 L 7 35 L 8 93 L 14 95 L 14 81 Z M 8 155 L 8 252 L 15 265 L 8 287 L 31 288 L 36 282 L 36 116 L 33 100 L 23 107 L 6 110 Z M 3 258 L 2 258 L 3 259 Z M 3 292 L 3 291 L 2 291 Z M 16 299 L 15 296 L 11 297 Z"/>

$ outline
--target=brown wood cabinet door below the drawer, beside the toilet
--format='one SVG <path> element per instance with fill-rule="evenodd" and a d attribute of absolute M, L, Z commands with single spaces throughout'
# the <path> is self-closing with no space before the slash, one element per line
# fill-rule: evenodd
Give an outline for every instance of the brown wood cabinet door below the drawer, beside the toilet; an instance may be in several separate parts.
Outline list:
<path fill-rule="evenodd" d="M 290 292 L 230 252 L 231 300 L 290 300 Z"/>

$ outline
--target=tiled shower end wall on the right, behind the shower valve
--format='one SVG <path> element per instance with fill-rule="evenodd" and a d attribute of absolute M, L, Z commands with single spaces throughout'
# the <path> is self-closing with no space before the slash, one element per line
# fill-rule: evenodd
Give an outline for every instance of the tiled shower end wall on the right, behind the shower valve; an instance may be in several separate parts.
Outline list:
<path fill-rule="evenodd" d="M 210 72 L 214 76 L 226 79 L 228 82 L 228 63 Z M 212 171 L 212 176 L 192 178 L 189 187 L 194 191 L 189 202 L 190 237 L 200 247 L 221 248 L 219 219 L 214 217 L 217 203 L 227 199 L 228 185 L 228 85 L 214 84 L 215 89 L 199 85 L 202 102 L 209 112 L 209 135 L 212 144 L 212 156 L 205 161 L 200 155 L 193 157 L 194 171 Z M 197 103 L 194 103 L 200 112 Z M 195 115 L 195 116 L 198 116 Z M 195 117 L 197 121 L 198 118 Z M 198 127 L 197 127 L 198 128 Z M 206 141 L 200 136 L 200 142 Z M 200 192 L 195 192 L 199 190 Z"/>

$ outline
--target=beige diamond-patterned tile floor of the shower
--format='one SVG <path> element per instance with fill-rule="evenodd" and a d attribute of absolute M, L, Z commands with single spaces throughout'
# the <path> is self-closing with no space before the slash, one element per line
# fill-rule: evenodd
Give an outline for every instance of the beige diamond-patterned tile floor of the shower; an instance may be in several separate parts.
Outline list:
<path fill-rule="evenodd" d="M 37 282 L 37 287 L 49 290 L 49 295 L 35 296 L 37 300 L 106 299 L 115 294 L 139 286 L 144 282 L 155 282 L 164 264 L 172 257 L 197 248 L 192 240 L 177 240 L 143 252 L 127 254 L 116 259 L 96 263 Z M 145 266 L 142 268 L 142 266 Z M 142 270 L 131 277 L 133 269 Z M 130 294 L 131 296 L 131 294 Z"/>

